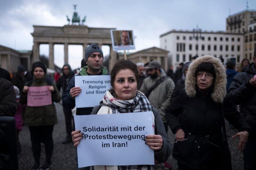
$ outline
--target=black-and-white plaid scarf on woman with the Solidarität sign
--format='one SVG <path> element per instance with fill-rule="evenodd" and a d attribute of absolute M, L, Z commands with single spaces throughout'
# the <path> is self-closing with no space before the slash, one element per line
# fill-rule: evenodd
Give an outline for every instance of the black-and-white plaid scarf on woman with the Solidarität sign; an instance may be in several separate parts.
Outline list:
<path fill-rule="evenodd" d="M 153 109 L 147 97 L 137 90 L 136 95 L 131 100 L 118 100 L 112 96 L 108 90 L 102 99 L 103 104 L 97 115 L 100 114 L 116 114 L 116 113 L 133 113 L 151 111 L 153 133 L 155 133 L 155 116 Z M 126 165 L 126 166 L 92 166 L 92 170 L 155 170 L 155 165 Z"/>

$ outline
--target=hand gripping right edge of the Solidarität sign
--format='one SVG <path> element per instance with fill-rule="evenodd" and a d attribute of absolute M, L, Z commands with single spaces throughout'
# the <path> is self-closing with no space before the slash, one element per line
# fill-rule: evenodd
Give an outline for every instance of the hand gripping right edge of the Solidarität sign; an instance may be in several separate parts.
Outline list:
<path fill-rule="evenodd" d="M 147 144 L 151 149 L 158 151 L 162 149 L 163 138 L 161 135 L 148 135 L 144 139 L 145 144 Z"/>

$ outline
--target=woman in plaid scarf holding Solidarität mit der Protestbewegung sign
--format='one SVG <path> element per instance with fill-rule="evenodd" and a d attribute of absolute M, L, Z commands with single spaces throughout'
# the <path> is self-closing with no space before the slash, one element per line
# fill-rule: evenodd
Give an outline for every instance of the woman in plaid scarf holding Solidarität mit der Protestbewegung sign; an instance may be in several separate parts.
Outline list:
<path fill-rule="evenodd" d="M 99 106 L 95 106 L 92 114 L 118 114 L 127 112 L 146 112 L 152 114 L 152 122 L 155 134 L 145 137 L 145 145 L 153 149 L 155 159 L 158 162 L 164 162 L 168 159 L 172 152 L 172 145 L 167 139 L 164 130 L 164 124 L 159 116 L 158 110 L 153 109 L 148 102 L 147 97 L 137 90 L 138 87 L 138 70 L 137 66 L 129 60 L 117 62 L 111 71 L 111 86 Z M 143 120 L 141 120 L 143 121 Z M 83 133 L 81 131 L 73 131 L 72 140 L 77 146 Z M 113 166 L 94 166 L 94 169 L 112 169 Z M 119 169 L 116 166 L 115 169 Z M 154 165 L 132 165 L 122 166 L 122 169 L 155 169 Z"/>

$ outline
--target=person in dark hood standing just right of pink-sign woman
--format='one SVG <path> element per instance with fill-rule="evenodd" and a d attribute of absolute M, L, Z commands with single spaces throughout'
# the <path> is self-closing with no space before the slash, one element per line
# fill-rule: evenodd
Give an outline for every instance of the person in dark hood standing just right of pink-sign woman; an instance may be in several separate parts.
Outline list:
<path fill-rule="evenodd" d="M 66 91 L 66 89 L 68 87 L 68 83 L 72 79 L 73 76 L 74 76 L 74 73 L 72 72 L 70 65 L 64 64 L 64 66 L 62 67 L 62 76 L 57 81 L 57 88 L 59 91 L 60 91 L 60 88 L 62 88 L 62 95 Z M 65 115 L 67 135 L 66 135 L 66 138 L 62 141 L 62 144 L 66 144 L 66 143 L 72 141 L 71 132 L 73 131 L 73 129 L 72 129 L 72 117 L 73 116 L 72 116 L 71 109 L 68 109 L 65 106 L 63 106 L 63 112 Z"/>

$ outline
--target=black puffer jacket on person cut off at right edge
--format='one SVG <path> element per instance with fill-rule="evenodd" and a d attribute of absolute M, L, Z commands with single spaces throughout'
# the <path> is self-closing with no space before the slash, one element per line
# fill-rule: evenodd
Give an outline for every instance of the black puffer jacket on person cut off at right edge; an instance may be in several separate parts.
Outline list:
<path fill-rule="evenodd" d="M 236 74 L 228 90 L 233 103 L 240 104 L 240 113 L 252 129 L 250 138 L 256 138 L 256 87 L 249 82 L 254 75 L 255 63 L 251 63 L 245 72 Z"/>

